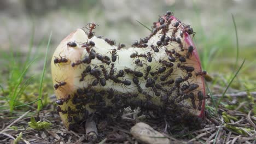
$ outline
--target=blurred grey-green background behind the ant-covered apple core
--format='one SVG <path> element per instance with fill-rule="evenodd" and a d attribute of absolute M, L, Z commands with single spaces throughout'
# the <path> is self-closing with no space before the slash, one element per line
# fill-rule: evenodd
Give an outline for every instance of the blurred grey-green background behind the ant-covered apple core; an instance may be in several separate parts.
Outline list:
<path fill-rule="evenodd" d="M 32 64 L 28 74 L 37 75 L 43 69 L 43 58 L 51 31 L 53 35 L 49 60 L 60 41 L 86 23 L 95 22 L 100 25 L 96 35 L 130 46 L 133 41 L 150 33 L 136 20 L 150 27 L 159 15 L 171 10 L 196 32 L 194 42 L 200 52 L 203 69 L 212 75 L 234 75 L 235 68 L 246 58 L 240 76 L 248 79 L 253 87 L 256 78 L 255 7 L 255 0 L 3 0 L 0 1 L 0 83 L 5 83 L 6 74 L 10 72 L 9 59 L 5 54 L 13 51 L 15 59 L 18 59 L 16 64 L 22 64 L 26 61 L 31 39 L 30 59 L 39 59 Z M 237 66 L 236 33 L 231 14 L 235 17 L 238 33 Z M 50 79 L 49 65 L 48 61 L 46 77 Z"/>

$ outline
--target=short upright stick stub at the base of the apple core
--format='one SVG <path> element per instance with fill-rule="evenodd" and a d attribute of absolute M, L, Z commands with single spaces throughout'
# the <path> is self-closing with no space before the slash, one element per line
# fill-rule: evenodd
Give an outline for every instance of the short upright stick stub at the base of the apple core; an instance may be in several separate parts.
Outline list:
<path fill-rule="evenodd" d="M 85 129 L 86 129 L 86 137 L 89 141 L 96 141 L 98 131 L 96 127 L 96 123 L 94 121 L 94 115 L 92 115 L 90 118 L 87 119 L 85 123 Z"/>

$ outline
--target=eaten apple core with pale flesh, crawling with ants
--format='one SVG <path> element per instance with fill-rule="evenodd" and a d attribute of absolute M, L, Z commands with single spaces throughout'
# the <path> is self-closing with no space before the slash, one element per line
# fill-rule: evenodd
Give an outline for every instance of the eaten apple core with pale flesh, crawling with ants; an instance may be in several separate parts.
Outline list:
<path fill-rule="evenodd" d="M 138 107 L 146 115 L 148 111 L 168 113 L 170 107 L 179 107 L 179 110 L 189 111 L 195 116 L 204 116 L 205 83 L 200 74 L 201 63 L 193 40 L 185 30 L 187 27 L 174 16 L 165 15 L 162 19 L 168 25 L 166 34 L 159 28 L 163 23 L 156 22 L 157 32 L 149 36 L 147 43 L 140 43 L 147 44 L 143 48 L 138 46 L 117 50 L 117 46 L 109 45 L 101 38 L 94 36 L 88 39 L 83 29 L 77 29 L 61 41 L 51 61 L 51 74 L 54 85 L 66 82 L 55 88 L 55 94 L 57 100 L 62 101 L 57 106 L 57 111 L 67 128 L 74 129 L 71 124 L 86 121 L 90 113 L 98 111 L 102 114 L 115 114 L 125 107 Z M 177 22 L 179 25 L 176 27 Z M 175 29 L 177 32 L 174 33 Z M 162 41 L 158 46 L 162 35 L 176 39 Z M 177 42 L 178 39 L 181 42 Z M 95 43 L 89 50 L 93 49 L 97 55 L 109 57 L 109 64 L 105 63 L 107 60 L 100 60 L 98 57 L 91 59 L 89 64 L 82 62 L 89 56 L 88 50 L 83 47 L 89 41 Z M 76 46 L 68 46 L 69 42 Z M 155 52 L 152 45 L 159 52 Z M 192 51 L 189 50 L 191 46 Z M 112 62 L 114 49 L 117 50 L 117 60 Z M 175 58 L 174 61 L 170 61 L 170 56 Z M 56 58 L 66 58 L 68 62 L 55 63 Z M 140 63 L 135 62 L 137 59 Z M 147 71 L 149 66 L 151 69 Z M 84 73 L 88 67 L 91 68 L 90 72 Z M 95 74 L 92 69 L 100 72 Z M 111 70 L 114 70 L 114 75 L 106 80 L 104 74 L 109 75 Z M 117 76 L 120 70 L 124 71 L 124 75 Z M 127 73 L 127 70 L 131 70 L 131 73 Z M 139 72 L 143 76 L 137 75 Z M 183 81 L 178 82 L 181 79 Z M 101 83 L 101 80 L 106 84 Z M 202 96 L 200 98 L 199 93 Z"/>

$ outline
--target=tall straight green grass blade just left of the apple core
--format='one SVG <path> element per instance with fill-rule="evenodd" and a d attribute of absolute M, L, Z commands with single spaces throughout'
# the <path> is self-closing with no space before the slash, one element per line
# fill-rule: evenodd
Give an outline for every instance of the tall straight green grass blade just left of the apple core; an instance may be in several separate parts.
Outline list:
<path fill-rule="evenodd" d="M 44 59 L 44 68 L 43 68 L 42 76 L 40 79 L 39 98 L 38 99 L 42 99 L 43 80 L 44 80 L 44 74 L 45 74 L 45 69 L 46 69 L 46 62 L 47 62 L 47 58 L 48 58 L 49 45 L 50 45 L 50 41 L 51 41 L 51 34 L 52 34 L 52 32 L 50 33 L 50 37 L 48 39 L 48 45 L 47 45 L 45 59 Z M 43 105 L 41 103 L 38 103 L 37 111 L 39 112 L 42 108 L 43 108 Z"/>

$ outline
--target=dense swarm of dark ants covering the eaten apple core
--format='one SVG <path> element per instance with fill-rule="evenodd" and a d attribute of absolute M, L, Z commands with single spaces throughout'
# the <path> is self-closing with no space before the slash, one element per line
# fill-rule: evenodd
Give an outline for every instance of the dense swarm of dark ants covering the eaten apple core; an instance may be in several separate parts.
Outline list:
<path fill-rule="evenodd" d="M 153 23 L 152 33 L 129 49 L 95 35 L 96 27 L 88 23 L 83 28 L 86 41 L 67 41 L 53 57 L 52 69 L 59 71 L 52 74 L 62 76 L 54 80 L 56 110 L 69 129 L 78 129 L 89 115 L 121 115 L 126 107 L 139 110 L 138 116 L 177 122 L 189 119 L 184 113 L 203 117 L 207 73 L 201 69 L 189 25 L 167 11 Z M 63 52 L 78 49 L 83 55 L 76 60 Z M 67 90 L 68 82 L 74 91 Z"/>

